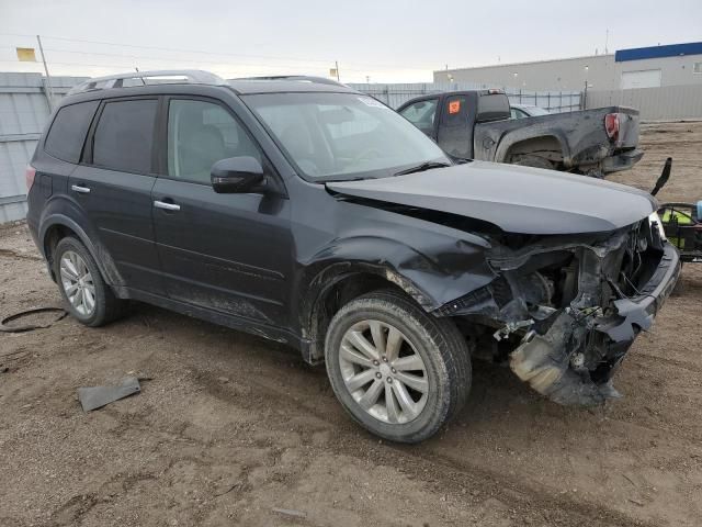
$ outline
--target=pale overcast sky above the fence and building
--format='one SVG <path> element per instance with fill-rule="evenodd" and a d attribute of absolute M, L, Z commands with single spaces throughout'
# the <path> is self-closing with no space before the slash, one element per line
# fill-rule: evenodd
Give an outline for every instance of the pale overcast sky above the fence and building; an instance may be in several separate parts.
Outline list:
<path fill-rule="evenodd" d="M 608 29 L 610 53 L 699 42 L 702 0 L 0 0 L 0 71 L 39 71 L 15 54 L 39 34 L 52 75 L 329 75 L 338 60 L 342 81 L 422 82 L 445 65 L 603 53 Z"/>

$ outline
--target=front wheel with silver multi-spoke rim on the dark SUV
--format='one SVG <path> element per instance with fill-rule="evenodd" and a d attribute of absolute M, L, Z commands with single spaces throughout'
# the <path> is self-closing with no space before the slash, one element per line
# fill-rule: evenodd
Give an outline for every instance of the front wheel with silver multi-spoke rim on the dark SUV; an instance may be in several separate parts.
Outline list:
<path fill-rule="evenodd" d="M 400 346 L 390 344 L 397 343 L 396 332 L 404 339 Z M 358 335 L 377 351 L 377 360 L 371 359 L 374 352 Z M 376 335 L 383 343 L 380 348 Z M 384 356 L 389 360 L 384 362 Z M 373 292 L 339 310 L 327 332 L 325 359 L 331 388 L 344 410 L 361 426 L 390 441 L 412 444 L 433 436 L 461 410 L 471 390 L 468 347 L 453 321 L 428 315 L 395 291 Z M 363 382 L 356 375 L 369 378 L 367 384 L 356 389 Z M 407 404 L 408 395 L 414 404 Z"/>

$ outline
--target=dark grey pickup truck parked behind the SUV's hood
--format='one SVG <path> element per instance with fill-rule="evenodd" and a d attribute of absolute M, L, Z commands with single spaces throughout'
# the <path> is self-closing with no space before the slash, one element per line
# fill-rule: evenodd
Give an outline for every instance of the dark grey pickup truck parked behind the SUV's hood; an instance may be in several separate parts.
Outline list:
<path fill-rule="evenodd" d="M 479 159 L 604 177 L 633 167 L 638 111 L 624 106 L 512 117 L 500 90 L 435 93 L 397 110 L 454 159 Z"/>

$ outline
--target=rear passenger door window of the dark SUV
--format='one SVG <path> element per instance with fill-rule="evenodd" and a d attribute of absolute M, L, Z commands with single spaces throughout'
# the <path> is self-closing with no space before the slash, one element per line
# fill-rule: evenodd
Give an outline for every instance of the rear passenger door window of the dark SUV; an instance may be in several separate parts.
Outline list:
<path fill-rule="evenodd" d="M 95 127 L 93 165 L 124 172 L 154 172 L 157 106 L 156 99 L 107 102 Z"/>

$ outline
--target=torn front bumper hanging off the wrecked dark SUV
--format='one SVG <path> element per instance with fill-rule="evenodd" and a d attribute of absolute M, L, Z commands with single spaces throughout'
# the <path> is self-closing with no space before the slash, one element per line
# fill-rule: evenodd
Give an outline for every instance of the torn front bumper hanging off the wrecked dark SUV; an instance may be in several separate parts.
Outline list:
<path fill-rule="evenodd" d="M 679 274 L 678 253 L 665 244 L 657 269 L 636 296 L 614 301 L 615 313 L 607 316 L 601 312 L 600 316 L 584 315 L 573 307 L 561 311 L 543 335 L 530 332 L 524 336 L 510 354 L 510 368 L 559 404 L 590 406 L 618 397 L 611 377 L 636 335 L 650 327 Z M 592 355 L 597 362 L 588 359 Z"/>

